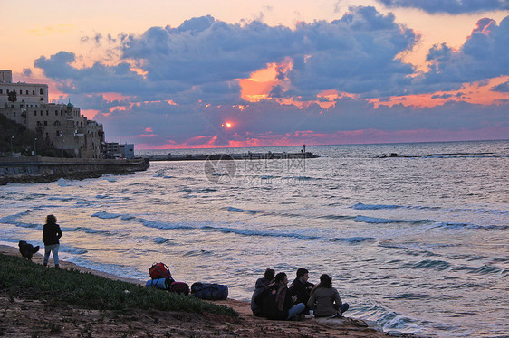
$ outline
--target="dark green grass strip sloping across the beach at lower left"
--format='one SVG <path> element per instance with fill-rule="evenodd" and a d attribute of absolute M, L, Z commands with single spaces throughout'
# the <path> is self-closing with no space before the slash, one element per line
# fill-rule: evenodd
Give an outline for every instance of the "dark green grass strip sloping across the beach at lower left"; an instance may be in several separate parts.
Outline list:
<path fill-rule="evenodd" d="M 97 310 L 155 309 L 238 316 L 230 307 L 204 302 L 194 296 L 111 280 L 76 269 L 45 268 L 22 258 L 2 254 L 0 293 Z"/>

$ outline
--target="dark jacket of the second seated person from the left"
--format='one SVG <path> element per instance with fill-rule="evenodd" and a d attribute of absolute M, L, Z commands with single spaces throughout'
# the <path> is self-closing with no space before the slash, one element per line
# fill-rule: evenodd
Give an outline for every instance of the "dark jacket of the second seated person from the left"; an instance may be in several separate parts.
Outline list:
<path fill-rule="evenodd" d="M 274 286 L 266 288 L 260 296 L 264 296 L 264 315 L 268 319 L 285 320 L 288 318 L 288 310 L 293 305 L 288 287 L 274 284 Z"/>

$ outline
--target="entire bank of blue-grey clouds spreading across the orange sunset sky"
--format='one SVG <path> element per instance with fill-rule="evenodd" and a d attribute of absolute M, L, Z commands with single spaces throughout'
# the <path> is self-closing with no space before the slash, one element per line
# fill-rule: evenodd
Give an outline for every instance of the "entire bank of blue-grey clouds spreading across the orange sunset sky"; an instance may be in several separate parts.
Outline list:
<path fill-rule="evenodd" d="M 298 130 L 469 130 L 479 127 L 479 121 L 487 127 L 506 125 L 506 104 L 374 108 L 364 99 L 389 102 L 392 96 L 457 90 L 466 82 L 487 84 L 487 79 L 507 75 L 508 26 L 507 17 L 500 24 L 479 20 L 459 49 L 447 44 L 430 49 L 430 68 L 420 73 L 399 59 L 402 52 L 416 46 L 418 34 L 396 23 L 393 14 L 380 14 L 374 7 L 351 7 L 338 20 L 298 23 L 294 29 L 257 21 L 229 24 L 211 16 L 192 18 L 175 28 L 152 27 L 140 35 L 102 38 L 101 43 L 120 46 L 118 64 L 95 62 L 78 68 L 74 53 L 58 52 L 40 57 L 34 65 L 64 94 L 71 94 L 74 104 L 101 111 L 96 119 L 108 126 L 113 139 L 130 135 L 139 137 L 134 139 L 137 142 L 150 139 L 154 145 L 163 145 L 191 136 L 219 136 L 217 144 L 225 145 L 234 137 L 232 133 L 261 137 Z M 357 94 L 359 99 L 337 99 L 336 106 L 328 109 L 316 103 L 296 108 L 275 100 L 249 103 L 241 99 L 239 79 L 249 78 L 268 63 L 288 60 L 293 68 L 278 69 L 276 77 L 284 85 L 275 86 L 272 97 L 317 101 L 323 90 L 336 89 Z M 133 64 L 141 71 L 131 70 Z M 108 101 L 101 95 L 106 92 L 126 99 Z M 460 94 L 454 94 L 456 99 Z M 452 96 L 437 93 L 434 98 Z M 238 104 L 246 108 L 235 108 Z M 235 122 L 235 128 L 221 129 L 226 120 Z M 143 136 L 148 127 L 153 132 Z"/>

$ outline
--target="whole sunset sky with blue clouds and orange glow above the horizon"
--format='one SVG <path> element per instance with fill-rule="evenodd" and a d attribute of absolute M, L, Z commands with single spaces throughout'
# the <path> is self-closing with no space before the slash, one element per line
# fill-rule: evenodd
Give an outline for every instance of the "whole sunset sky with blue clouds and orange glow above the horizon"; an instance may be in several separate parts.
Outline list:
<path fill-rule="evenodd" d="M 137 149 L 509 138 L 507 0 L 1 1 L 0 42 Z"/>

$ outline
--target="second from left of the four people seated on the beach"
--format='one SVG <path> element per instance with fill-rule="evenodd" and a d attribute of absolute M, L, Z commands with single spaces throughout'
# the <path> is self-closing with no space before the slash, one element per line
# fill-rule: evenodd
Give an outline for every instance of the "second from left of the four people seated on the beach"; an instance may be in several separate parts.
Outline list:
<path fill-rule="evenodd" d="M 306 306 L 303 303 L 293 305 L 296 296 L 290 296 L 287 285 L 288 277 L 280 272 L 275 275 L 274 286 L 259 295 L 263 297 L 263 311 L 268 319 L 289 320 L 304 311 Z"/>

